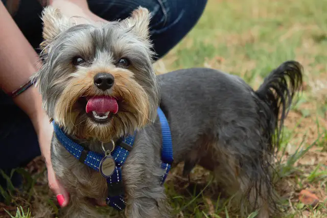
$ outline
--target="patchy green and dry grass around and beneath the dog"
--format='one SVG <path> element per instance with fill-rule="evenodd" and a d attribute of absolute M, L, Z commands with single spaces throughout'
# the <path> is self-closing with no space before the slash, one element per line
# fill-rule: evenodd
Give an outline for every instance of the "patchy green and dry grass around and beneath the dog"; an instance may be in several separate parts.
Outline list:
<path fill-rule="evenodd" d="M 305 87 L 286 120 L 277 160 L 284 217 L 327 217 L 326 11 L 327 2 L 321 0 L 209 0 L 197 26 L 155 64 L 158 74 L 189 67 L 220 69 L 258 88 L 282 62 L 302 63 Z M 35 217 L 55 216 L 58 207 L 46 184 L 42 160 L 19 170 L 25 172 L 24 188 L 0 188 L 10 205 L 0 208 L 15 214 L 21 205 Z M 190 178 L 191 182 L 182 178 L 177 167 L 167 180 L 176 217 L 238 217 L 209 172 L 197 167 Z M 319 205 L 312 208 L 299 202 L 302 189 L 313 191 Z M 0 214 L 9 217 L 1 209 Z"/>

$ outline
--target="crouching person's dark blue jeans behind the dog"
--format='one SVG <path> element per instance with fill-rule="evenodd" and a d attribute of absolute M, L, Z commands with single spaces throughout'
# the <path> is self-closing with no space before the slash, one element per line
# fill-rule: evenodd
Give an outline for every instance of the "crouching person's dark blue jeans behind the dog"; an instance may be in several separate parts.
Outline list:
<path fill-rule="evenodd" d="M 6 5 L 6 0 L 2 0 Z M 160 58 L 167 54 L 196 24 L 206 0 L 89 0 L 92 12 L 106 20 L 124 19 L 138 6 L 152 12 L 151 40 Z M 38 52 L 42 40 L 40 15 L 36 0 L 21 0 L 14 20 Z M 3 43 L 3 42 L 1 42 Z M 18 60 L 19 61 L 19 60 Z M 0 90 L 0 168 L 7 174 L 40 155 L 36 133 L 29 117 Z M 13 181 L 18 184 L 19 180 Z M 0 176 L 0 184 L 4 184 Z"/>

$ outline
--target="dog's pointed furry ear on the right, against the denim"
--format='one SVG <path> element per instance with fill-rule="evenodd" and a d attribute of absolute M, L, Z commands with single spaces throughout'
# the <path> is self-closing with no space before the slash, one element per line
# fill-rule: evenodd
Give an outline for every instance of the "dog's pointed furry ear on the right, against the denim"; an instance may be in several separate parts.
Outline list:
<path fill-rule="evenodd" d="M 139 7 L 132 12 L 132 15 L 122 20 L 123 25 L 127 28 L 131 28 L 136 35 L 148 39 L 149 34 L 149 23 L 151 14 L 148 9 Z"/>

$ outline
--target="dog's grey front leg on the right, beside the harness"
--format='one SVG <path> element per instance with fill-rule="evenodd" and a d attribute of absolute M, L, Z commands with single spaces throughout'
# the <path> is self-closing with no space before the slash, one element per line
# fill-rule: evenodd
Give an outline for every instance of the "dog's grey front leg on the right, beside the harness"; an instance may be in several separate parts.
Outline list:
<path fill-rule="evenodd" d="M 139 143 L 138 143 L 139 144 Z M 160 144 L 157 145 L 160 148 Z M 123 166 L 128 218 L 172 217 L 165 187 L 161 185 L 160 150 L 149 143 L 137 146 Z"/>

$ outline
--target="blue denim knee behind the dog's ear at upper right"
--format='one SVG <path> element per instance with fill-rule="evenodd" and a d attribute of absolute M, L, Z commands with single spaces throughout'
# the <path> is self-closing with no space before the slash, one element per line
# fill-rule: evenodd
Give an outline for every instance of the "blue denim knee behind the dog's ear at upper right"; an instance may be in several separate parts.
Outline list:
<path fill-rule="evenodd" d="M 139 6 L 151 12 L 150 38 L 157 58 L 167 54 L 197 23 L 206 0 L 88 0 L 90 10 L 106 20 L 125 19 Z"/>

